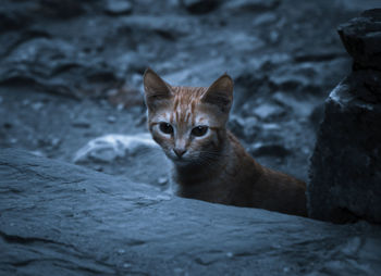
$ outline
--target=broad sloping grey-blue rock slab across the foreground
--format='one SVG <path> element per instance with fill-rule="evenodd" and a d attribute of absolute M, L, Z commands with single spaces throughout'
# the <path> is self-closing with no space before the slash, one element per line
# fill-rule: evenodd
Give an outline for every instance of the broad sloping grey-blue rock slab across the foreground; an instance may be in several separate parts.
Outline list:
<path fill-rule="evenodd" d="M 0 152 L 0 275 L 377 275 L 381 231 Z"/>

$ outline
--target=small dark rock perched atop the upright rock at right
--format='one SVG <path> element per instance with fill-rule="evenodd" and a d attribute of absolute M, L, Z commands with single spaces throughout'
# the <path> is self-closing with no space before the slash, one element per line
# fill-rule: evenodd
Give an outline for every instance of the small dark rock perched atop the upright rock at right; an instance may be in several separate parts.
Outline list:
<path fill-rule="evenodd" d="M 381 71 L 381 9 L 365 11 L 342 24 L 339 34 L 355 66 Z"/>

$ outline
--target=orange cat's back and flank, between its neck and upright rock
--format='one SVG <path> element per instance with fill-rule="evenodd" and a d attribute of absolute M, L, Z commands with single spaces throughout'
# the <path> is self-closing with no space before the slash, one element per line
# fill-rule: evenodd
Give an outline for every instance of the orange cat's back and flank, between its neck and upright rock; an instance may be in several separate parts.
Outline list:
<path fill-rule="evenodd" d="M 232 203 L 307 216 L 306 184 L 297 178 L 257 163 L 238 139 L 229 133 L 231 161 L 236 171 Z"/>

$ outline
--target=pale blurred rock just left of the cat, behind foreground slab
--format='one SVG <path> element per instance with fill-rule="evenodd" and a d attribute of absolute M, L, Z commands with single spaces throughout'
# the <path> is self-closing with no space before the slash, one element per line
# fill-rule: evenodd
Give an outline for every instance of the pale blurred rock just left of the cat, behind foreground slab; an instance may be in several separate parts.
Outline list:
<path fill-rule="evenodd" d="M 74 154 L 73 161 L 97 171 L 101 165 L 103 173 L 125 176 L 160 189 L 169 187 L 172 165 L 147 133 L 95 138 Z"/>

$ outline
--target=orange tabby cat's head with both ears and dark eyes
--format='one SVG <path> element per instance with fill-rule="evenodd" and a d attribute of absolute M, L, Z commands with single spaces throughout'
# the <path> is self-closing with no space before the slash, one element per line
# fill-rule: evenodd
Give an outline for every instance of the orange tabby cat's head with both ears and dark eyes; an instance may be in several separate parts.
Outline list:
<path fill-rule="evenodd" d="M 176 87 L 148 68 L 144 75 L 148 127 L 177 165 L 208 163 L 223 147 L 233 102 L 233 80 L 224 74 L 209 87 Z"/>

